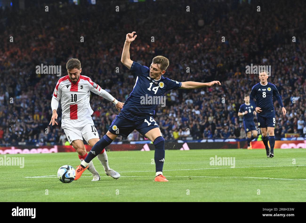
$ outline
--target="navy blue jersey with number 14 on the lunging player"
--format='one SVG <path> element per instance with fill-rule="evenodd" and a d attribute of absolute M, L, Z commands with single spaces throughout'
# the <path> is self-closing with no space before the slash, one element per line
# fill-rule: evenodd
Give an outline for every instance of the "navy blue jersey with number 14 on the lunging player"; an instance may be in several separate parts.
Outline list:
<path fill-rule="evenodd" d="M 133 62 L 131 71 L 136 75 L 136 83 L 130 96 L 126 99 L 122 112 L 129 111 L 140 116 L 155 115 L 155 108 L 163 100 L 162 96 L 168 90 L 182 86 L 181 82 L 161 76 L 157 80 L 150 78 L 150 69 L 137 62 Z M 158 97 L 156 97 L 158 96 Z"/>

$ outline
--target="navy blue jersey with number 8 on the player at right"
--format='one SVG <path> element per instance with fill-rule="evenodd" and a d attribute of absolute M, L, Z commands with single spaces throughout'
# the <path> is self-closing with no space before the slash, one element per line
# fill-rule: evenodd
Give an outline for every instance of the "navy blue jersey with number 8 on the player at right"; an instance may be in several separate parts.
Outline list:
<path fill-rule="evenodd" d="M 260 82 L 252 87 L 250 98 L 256 98 L 256 106 L 261 108 L 262 112 L 261 115 L 274 113 L 274 106 L 273 106 L 273 95 L 279 95 L 278 90 L 276 89 L 274 84 L 270 82 L 267 85 L 262 85 Z"/>

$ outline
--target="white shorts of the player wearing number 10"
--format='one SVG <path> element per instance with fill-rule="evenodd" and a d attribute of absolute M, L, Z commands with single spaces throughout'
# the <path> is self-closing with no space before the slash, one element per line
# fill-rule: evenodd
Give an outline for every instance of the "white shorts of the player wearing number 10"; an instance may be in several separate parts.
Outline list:
<path fill-rule="evenodd" d="M 70 144 L 77 139 L 83 141 L 84 138 L 87 143 L 90 139 L 99 139 L 99 134 L 91 117 L 85 119 L 62 119 L 62 129 L 64 129 Z"/>

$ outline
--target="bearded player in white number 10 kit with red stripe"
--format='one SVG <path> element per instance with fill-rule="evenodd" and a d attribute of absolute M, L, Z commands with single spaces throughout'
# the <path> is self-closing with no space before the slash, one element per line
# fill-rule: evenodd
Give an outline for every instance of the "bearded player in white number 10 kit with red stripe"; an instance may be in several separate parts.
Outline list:
<path fill-rule="evenodd" d="M 117 101 L 110 93 L 103 90 L 98 84 L 92 82 L 89 77 L 80 75 L 82 72 L 80 60 L 70 59 L 66 64 L 66 69 L 68 75 L 59 79 L 54 89 L 51 100 L 52 118 L 49 125 L 51 123 L 52 126 L 54 123 L 58 125 L 55 121 L 58 117 L 56 110 L 61 99 L 62 129 L 64 129 L 69 143 L 78 152 L 79 159 L 82 162 L 87 156 L 83 138 L 91 147 L 99 141 L 98 132 L 91 118 L 93 110 L 89 104 L 90 91 L 112 101 L 118 111 L 122 109 L 124 103 Z M 106 175 L 115 179 L 120 177 L 118 172 L 110 169 L 108 166 L 105 149 L 97 157 L 103 165 Z M 92 181 L 100 180 L 100 175 L 95 170 L 92 162 L 89 164 L 88 170 L 93 175 Z"/>

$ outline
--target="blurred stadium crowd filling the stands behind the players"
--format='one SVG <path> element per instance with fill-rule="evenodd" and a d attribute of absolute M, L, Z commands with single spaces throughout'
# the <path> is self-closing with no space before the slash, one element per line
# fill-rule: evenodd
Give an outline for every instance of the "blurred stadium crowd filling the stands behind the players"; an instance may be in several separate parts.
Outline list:
<path fill-rule="evenodd" d="M 281 9 L 275 7 L 277 4 L 287 7 Z M 154 56 L 163 55 L 170 60 L 165 77 L 180 82 L 222 83 L 166 93 L 166 107 L 159 105 L 154 118 L 166 140 L 245 138 L 238 109 L 244 103 L 244 94 L 259 82 L 257 74 L 246 74 L 250 64 L 271 65 L 268 81 L 277 87 L 287 110 L 284 117 L 274 101 L 276 139 L 285 137 L 285 133 L 304 137 L 306 3 L 280 0 L 260 6 L 261 12 L 257 12 L 256 1 L 204 4 L 169 0 L 117 1 L 88 5 L 86 10 L 53 4 L 49 12 L 44 7 L 20 12 L 0 9 L 0 144 L 54 145 L 67 141 L 61 129 L 60 107 L 58 126 L 49 126 L 50 102 L 60 77 L 37 74 L 37 65 L 61 65 L 64 76 L 66 62 L 78 58 L 81 75 L 89 76 L 124 102 L 136 79 L 120 62 L 125 35 L 132 31 L 137 34 L 130 47 L 132 60 L 149 66 Z M 91 108 L 102 136 L 118 111 L 94 93 Z M 118 137 L 117 141 L 143 139 L 134 131 L 127 139 Z"/>

